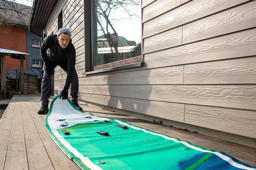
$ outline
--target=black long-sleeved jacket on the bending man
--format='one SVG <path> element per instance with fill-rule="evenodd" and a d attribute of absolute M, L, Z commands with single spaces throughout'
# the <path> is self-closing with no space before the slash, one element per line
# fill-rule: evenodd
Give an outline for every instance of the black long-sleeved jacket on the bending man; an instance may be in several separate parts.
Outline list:
<path fill-rule="evenodd" d="M 76 64 L 76 50 L 71 39 L 67 47 L 63 49 L 58 44 L 57 35 L 49 35 L 43 41 L 40 53 L 45 64 L 49 63 L 49 60 L 52 60 L 55 63 L 67 60 L 67 79 L 64 87 L 69 88 Z"/>

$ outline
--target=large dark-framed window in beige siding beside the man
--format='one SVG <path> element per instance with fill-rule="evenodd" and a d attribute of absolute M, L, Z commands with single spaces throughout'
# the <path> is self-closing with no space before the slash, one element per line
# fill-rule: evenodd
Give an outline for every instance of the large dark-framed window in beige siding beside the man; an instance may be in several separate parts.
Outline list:
<path fill-rule="evenodd" d="M 86 71 L 141 62 L 140 0 L 90 2 L 91 57 Z"/>

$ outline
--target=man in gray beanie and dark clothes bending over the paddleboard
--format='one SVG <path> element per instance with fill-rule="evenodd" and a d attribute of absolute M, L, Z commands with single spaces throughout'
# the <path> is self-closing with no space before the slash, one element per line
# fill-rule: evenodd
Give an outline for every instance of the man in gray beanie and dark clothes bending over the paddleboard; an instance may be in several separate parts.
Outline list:
<path fill-rule="evenodd" d="M 51 75 L 54 75 L 54 68 L 60 66 L 66 73 L 67 79 L 61 91 L 60 99 L 67 99 L 68 89 L 71 84 L 71 101 L 79 110 L 83 110 L 77 104 L 78 98 L 78 76 L 75 69 L 76 51 L 71 41 L 71 32 L 67 28 L 58 30 L 57 35 L 49 35 L 42 43 L 40 53 L 43 65 L 43 79 L 41 85 L 41 108 L 38 114 L 48 113 L 49 97 L 51 96 Z"/>

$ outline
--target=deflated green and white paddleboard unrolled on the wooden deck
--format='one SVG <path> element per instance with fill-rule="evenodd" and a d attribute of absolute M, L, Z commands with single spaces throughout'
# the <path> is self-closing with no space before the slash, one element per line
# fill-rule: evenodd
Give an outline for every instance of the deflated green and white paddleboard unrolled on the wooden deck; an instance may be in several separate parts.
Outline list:
<path fill-rule="evenodd" d="M 83 113 L 70 99 L 58 97 L 52 100 L 45 126 L 82 170 L 256 170 L 224 152 Z"/>

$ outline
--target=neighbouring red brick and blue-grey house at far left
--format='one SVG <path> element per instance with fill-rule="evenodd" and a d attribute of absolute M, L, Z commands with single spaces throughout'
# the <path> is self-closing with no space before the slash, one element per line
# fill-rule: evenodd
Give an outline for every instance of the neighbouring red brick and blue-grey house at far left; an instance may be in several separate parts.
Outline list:
<path fill-rule="evenodd" d="M 42 78 L 40 57 L 42 36 L 38 32 L 29 32 L 32 7 L 6 0 L 0 0 L 0 4 L 2 8 L 0 10 L 0 48 L 29 53 L 25 56 L 24 73 L 37 75 L 39 88 Z M 5 68 L 7 77 L 16 79 L 16 70 L 17 73 L 20 72 L 20 60 L 5 57 Z M 8 90 L 16 90 L 15 80 L 12 82 Z"/>

